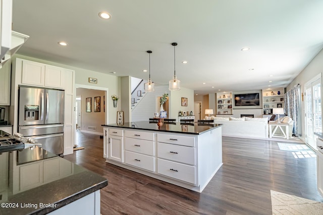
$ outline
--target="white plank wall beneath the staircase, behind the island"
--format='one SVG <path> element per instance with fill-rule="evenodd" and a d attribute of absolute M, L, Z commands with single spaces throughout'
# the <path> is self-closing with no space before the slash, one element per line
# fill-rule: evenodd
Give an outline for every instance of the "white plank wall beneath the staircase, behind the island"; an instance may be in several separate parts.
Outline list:
<path fill-rule="evenodd" d="M 132 110 L 132 121 L 147 121 L 149 118 L 154 117 L 154 113 L 159 112 L 157 97 L 163 96 L 165 92 L 170 95 L 168 85 L 155 86 L 155 91 L 145 93 L 145 96 L 139 100 Z"/>

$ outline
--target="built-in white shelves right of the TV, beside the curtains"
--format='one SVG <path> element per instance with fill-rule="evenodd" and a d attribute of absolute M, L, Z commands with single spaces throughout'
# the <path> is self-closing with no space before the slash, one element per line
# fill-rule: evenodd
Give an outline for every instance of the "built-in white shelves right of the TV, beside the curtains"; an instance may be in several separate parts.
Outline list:
<path fill-rule="evenodd" d="M 284 108 L 284 88 L 262 90 L 263 114 L 273 113 L 273 108 Z"/>

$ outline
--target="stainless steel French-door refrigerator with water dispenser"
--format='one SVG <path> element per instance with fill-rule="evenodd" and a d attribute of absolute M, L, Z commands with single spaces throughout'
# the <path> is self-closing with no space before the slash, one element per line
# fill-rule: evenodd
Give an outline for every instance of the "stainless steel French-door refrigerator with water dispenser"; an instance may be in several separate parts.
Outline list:
<path fill-rule="evenodd" d="M 64 152 L 64 90 L 19 87 L 18 132 L 54 154 Z"/>

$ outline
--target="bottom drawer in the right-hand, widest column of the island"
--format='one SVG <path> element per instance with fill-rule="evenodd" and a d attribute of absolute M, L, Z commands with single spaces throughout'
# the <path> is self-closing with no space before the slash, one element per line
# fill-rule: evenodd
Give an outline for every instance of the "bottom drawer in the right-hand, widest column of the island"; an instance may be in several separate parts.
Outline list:
<path fill-rule="evenodd" d="M 157 173 L 191 184 L 196 184 L 195 167 L 172 161 L 157 159 Z"/>

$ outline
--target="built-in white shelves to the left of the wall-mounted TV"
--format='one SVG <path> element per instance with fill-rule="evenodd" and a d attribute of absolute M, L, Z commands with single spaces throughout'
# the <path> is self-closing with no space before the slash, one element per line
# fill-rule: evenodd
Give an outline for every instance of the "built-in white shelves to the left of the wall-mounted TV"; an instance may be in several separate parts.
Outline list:
<path fill-rule="evenodd" d="M 232 92 L 217 93 L 217 113 L 232 115 Z"/>

